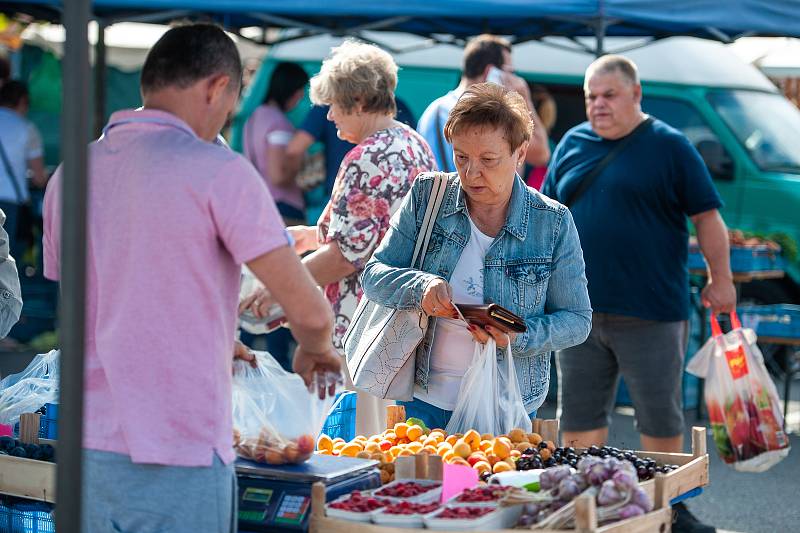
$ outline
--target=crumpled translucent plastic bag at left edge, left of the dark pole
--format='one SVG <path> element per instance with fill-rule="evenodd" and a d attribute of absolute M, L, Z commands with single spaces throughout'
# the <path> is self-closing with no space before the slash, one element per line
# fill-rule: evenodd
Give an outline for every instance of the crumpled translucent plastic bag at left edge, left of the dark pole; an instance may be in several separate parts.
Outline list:
<path fill-rule="evenodd" d="M 0 380 L 0 424 L 13 426 L 22 413 L 58 403 L 60 356 L 60 350 L 39 354 L 25 370 Z"/>

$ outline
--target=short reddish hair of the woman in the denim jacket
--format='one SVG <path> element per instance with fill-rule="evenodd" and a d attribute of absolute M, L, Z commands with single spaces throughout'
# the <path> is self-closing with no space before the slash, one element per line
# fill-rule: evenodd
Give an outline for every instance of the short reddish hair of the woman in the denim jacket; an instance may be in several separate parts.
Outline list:
<path fill-rule="evenodd" d="M 452 143 L 454 135 L 482 126 L 501 128 L 512 152 L 533 135 L 533 120 L 525 99 L 495 83 L 476 83 L 464 91 L 450 111 L 444 137 Z"/>

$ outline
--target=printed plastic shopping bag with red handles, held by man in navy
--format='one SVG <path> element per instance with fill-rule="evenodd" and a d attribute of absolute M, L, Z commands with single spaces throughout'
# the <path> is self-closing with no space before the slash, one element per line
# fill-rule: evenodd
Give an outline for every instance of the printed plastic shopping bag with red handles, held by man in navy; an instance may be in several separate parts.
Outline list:
<path fill-rule="evenodd" d="M 764 472 L 789 454 L 778 391 L 764 366 L 752 329 L 722 334 L 711 317 L 712 336 L 686 369 L 705 378 L 705 401 L 720 457 L 742 472 Z"/>

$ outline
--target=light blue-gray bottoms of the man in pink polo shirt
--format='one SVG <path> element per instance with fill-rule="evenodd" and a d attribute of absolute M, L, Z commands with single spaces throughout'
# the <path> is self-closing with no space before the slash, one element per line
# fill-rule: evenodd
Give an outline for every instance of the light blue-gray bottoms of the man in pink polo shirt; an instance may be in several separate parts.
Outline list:
<path fill-rule="evenodd" d="M 235 533 L 236 474 L 208 467 L 134 464 L 84 450 L 83 533 Z"/>

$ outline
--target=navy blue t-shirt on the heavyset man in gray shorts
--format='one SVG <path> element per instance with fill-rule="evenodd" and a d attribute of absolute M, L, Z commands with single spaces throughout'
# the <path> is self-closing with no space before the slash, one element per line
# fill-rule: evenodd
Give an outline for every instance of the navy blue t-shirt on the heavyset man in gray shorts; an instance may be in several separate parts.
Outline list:
<path fill-rule="evenodd" d="M 542 192 L 564 202 L 620 140 L 588 122 L 553 152 Z M 646 126 L 570 207 L 596 312 L 647 320 L 689 317 L 687 216 L 722 206 L 700 154 L 660 120 Z"/>

